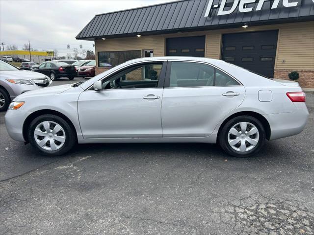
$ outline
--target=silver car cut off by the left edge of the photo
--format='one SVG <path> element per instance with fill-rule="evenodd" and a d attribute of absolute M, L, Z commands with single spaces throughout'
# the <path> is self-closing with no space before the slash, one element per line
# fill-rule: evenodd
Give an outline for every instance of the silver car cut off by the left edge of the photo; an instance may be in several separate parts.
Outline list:
<path fill-rule="evenodd" d="M 41 73 L 20 70 L 0 60 L 0 111 L 6 111 L 19 94 L 49 87 L 51 83 L 50 78 Z"/>

